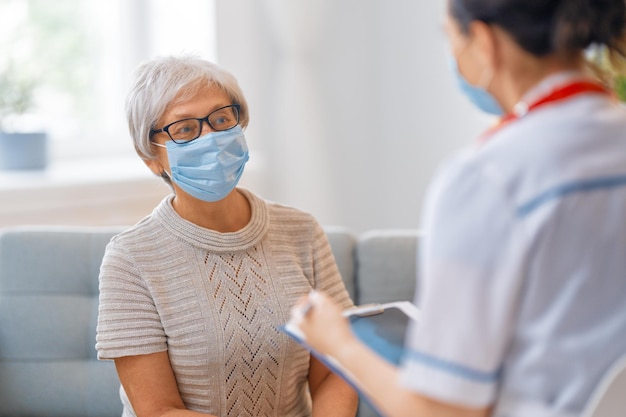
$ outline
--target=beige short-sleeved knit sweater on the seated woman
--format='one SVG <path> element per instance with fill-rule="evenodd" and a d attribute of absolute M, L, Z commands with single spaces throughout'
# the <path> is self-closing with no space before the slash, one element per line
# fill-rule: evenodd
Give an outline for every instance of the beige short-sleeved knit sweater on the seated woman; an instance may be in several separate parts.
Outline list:
<path fill-rule="evenodd" d="M 100 359 L 168 351 L 189 409 L 217 416 L 311 414 L 309 354 L 277 327 L 312 288 L 352 304 L 324 231 L 309 214 L 240 189 L 238 232 L 182 219 L 172 196 L 107 246 Z M 122 391 L 124 416 L 134 416 Z"/>

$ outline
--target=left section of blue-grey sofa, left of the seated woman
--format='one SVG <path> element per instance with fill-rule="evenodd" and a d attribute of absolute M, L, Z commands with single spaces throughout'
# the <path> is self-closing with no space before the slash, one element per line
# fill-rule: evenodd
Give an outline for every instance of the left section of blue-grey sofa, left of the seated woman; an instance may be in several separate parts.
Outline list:
<path fill-rule="evenodd" d="M 0 233 L 0 416 L 121 415 L 115 366 L 94 348 L 98 272 L 118 231 Z"/>

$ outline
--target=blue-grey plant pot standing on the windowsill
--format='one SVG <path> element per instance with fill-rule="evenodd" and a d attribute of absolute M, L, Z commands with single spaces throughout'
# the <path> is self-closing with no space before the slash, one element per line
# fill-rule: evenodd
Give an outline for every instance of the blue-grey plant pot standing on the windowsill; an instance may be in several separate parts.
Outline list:
<path fill-rule="evenodd" d="M 44 170 L 48 166 L 48 135 L 0 132 L 0 169 Z"/>

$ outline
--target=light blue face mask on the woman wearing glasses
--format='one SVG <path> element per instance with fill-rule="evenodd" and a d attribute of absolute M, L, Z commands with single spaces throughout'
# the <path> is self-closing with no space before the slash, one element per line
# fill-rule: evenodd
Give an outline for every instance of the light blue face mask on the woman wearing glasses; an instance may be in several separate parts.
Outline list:
<path fill-rule="evenodd" d="M 207 202 L 226 197 L 237 185 L 249 159 L 239 125 L 190 142 L 165 143 L 171 179 L 187 194 Z"/>

